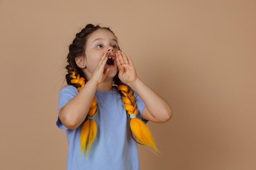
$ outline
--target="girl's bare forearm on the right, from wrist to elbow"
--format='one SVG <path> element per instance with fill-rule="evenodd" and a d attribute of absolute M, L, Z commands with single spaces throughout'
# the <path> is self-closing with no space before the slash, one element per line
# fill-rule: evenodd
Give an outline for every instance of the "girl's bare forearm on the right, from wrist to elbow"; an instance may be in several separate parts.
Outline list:
<path fill-rule="evenodd" d="M 141 79 L 137 78 L 136 81 L 128 84 L 128 86 L 130 86 L 146 104 L 146 108 L 142 114 L 144 119 L 157 123 L 166 122 L 171 119 L 171 106 Z"/>

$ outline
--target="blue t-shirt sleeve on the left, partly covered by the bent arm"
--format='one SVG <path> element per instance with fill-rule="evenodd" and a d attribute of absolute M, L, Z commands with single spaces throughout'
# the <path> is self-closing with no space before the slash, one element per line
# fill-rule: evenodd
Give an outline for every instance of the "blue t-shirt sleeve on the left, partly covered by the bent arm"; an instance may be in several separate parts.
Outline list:
<path fill-rule="evenodd" d="M 74 87 L 74 86 L 67 86 L 67 87 L 61 89 L 61 91 L 59 93 L 59 100 L 58 100 L 58 111 L 60 111 L 61 108 L 67 104 L 67 102 L 69 102 L 71 99 L 73 99 L 73 97 L 75 97 L 75 95 L 77 93 L 78 93 L 78 91 L 77 91 L 76 87 Z M 61 120 L 59 119 L 59 117 L 56 121 L 56 125 L 60 129 L 67 129 L 61 123 Z"/>

